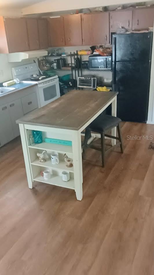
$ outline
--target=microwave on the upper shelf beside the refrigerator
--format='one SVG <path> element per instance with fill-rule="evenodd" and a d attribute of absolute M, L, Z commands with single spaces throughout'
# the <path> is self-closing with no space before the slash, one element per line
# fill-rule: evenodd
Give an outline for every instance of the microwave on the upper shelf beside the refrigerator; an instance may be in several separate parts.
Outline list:
<path fill-rule="evenodd" d="M 89 70 L 111 70 L 112 56 L 93 54 L 89 56 Z"/>

